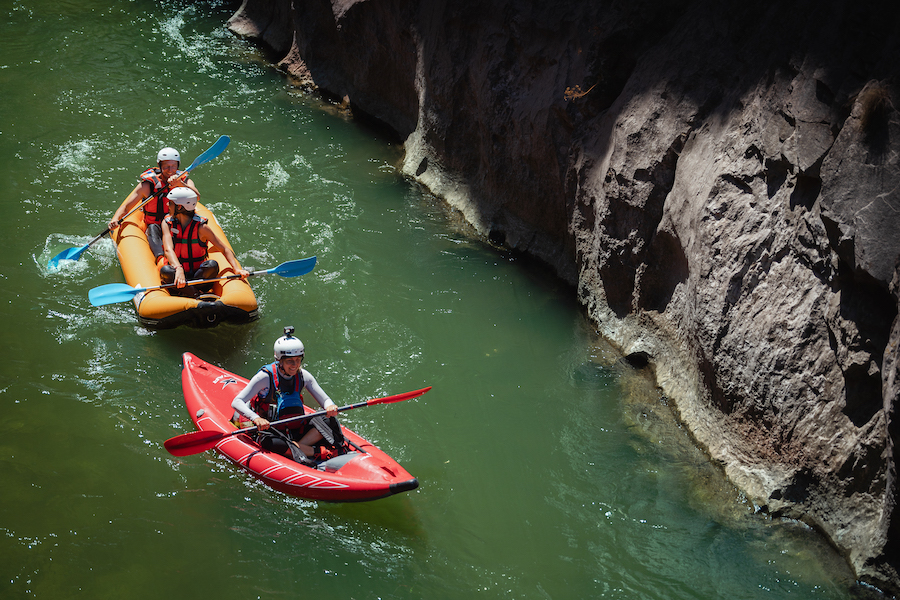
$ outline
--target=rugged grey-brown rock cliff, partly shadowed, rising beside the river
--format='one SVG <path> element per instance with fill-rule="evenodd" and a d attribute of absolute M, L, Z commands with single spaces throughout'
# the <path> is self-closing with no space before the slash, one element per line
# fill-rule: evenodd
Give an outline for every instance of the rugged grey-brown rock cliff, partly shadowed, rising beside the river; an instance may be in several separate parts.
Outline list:
<path fill-rule="evenodd" d="M 229 21 L 577 286 L 760 508 L 900 593 L 898 3 L 245 0 Z"/>

